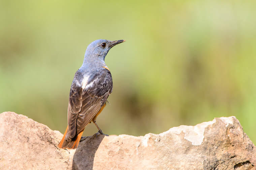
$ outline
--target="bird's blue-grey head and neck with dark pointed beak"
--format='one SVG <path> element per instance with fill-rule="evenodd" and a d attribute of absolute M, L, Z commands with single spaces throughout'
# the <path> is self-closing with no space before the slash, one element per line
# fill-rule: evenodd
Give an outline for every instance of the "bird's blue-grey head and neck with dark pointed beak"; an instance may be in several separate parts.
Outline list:
<path fill-rule="evenodd" d="M 117 44 L 123 43 L 125 40 L 109 41 L 109 40 L 96 40 L 89 44 L 85 52 L 84 64 L 90 63 L 105 63 L 105 57 L 108 51 Z"/>

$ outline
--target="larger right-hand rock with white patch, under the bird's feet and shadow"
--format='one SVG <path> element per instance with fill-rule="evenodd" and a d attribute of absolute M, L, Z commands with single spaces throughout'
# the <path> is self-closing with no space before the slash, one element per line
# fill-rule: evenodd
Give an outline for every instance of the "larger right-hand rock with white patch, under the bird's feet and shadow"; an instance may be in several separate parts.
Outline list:
<path fill-rule="evenodd" d="M 253 170 L 256 148 L 234 117 L 145 136 L 83 138 L 73 170 Z"/>

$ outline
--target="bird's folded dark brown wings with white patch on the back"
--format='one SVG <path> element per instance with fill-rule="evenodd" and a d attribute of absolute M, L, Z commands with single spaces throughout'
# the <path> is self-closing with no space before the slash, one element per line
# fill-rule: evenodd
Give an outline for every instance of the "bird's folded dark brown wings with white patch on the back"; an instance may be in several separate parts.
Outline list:
<path fill-rule="evenodd" d="M 82 86 L 74 78 L 69 94 L 67 141 L 85 128 L 111 94 L 113 82 L 110 71 L 104 69 L 95 73 L 88 78 L 86 86 Z"/>

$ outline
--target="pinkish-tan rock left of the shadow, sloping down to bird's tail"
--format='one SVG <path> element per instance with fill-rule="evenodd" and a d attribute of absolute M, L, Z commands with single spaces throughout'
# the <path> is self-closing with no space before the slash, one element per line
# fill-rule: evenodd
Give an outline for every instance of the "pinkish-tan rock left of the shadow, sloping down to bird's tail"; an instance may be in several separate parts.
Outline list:
<path fill-rule="evenodd" d="M 75 150 L 57 148 L 62 136 L 27 116 L 1 113 L 0 169 L 71 169 Z"/>

